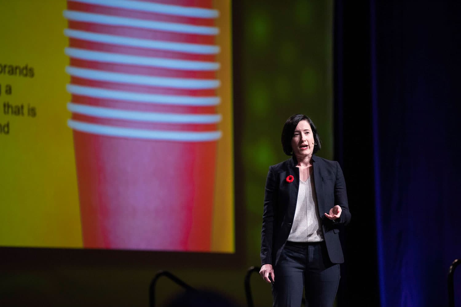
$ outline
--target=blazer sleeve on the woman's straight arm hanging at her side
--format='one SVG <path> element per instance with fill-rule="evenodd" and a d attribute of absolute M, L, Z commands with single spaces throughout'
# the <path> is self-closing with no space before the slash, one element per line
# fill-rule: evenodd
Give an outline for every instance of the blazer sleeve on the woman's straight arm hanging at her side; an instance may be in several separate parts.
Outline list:
<path fill-rule="evenodd" d="M 277 202 L 277 180 L 272 167 L 269 167 L 264 194 L 264 209 L 261 230 L 261 265 L 272 264 L 272 238 L 274 226 L 274 208 Z"/>

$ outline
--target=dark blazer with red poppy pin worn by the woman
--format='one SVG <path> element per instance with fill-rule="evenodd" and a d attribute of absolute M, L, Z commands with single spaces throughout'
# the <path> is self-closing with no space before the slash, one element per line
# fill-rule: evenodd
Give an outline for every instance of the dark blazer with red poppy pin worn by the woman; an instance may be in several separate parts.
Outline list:
<path fill-rule="evenodd" d="M 317 194 L 320 220 L 326 249 L 332 263 L 343 263 L 344 256 L 339 242 L 339 225 L 347 225 L 350 212 L 347 202 L 343 171 L 336 161 L 312 156 L 313 180 Z M 269 167 L 264 197 L 264 213 L 261 231 L 261 264 L 276 265 L 285 246 L 295 218 L 299 189 L 299 168 L 296 157 Z M 293 182 L 286 178 L 292 175 Z M 333 206 L 341 206 L 339 219 L 325 217 Z"/>

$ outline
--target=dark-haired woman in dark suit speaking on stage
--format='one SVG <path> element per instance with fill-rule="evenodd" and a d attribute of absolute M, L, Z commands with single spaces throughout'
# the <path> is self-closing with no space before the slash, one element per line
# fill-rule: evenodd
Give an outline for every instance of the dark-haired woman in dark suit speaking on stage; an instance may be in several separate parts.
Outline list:
<path fill-rule="evenodd" d="M 261 231 L 260 275 L 272 283 L 274 307 L 332 307 L 344 262 L 339 231 L 350 221 L 343 171 L 316 156 L 312 120 L 291 116 L 282 130 L 290 159 L 269 167 Z"/>

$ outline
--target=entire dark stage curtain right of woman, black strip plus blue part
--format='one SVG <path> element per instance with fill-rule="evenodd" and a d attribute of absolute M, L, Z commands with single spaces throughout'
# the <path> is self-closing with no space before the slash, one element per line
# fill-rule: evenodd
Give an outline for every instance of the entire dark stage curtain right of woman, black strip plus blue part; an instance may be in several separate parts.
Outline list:
<path fill-rule="evenodd" d="M 336 155 L 355 201 L 339 305 L 447 306 L 461 258 L 461 6 L 337 0 L 335 21 Z"/>

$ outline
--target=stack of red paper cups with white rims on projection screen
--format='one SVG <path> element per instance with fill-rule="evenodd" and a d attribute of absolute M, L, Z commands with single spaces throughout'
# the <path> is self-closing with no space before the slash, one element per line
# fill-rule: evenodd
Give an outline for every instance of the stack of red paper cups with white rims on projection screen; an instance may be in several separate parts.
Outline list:
<path fill-rule="evenodd" d="M 209 251 L 213 1 L 74 0 L 64 16 L 84 247 Z"/>

